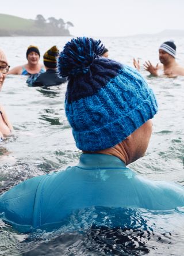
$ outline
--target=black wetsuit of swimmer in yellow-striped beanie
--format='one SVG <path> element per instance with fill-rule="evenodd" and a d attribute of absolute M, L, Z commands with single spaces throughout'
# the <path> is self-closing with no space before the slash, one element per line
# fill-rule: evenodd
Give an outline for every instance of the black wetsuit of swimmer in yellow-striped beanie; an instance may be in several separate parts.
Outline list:
<path fill-rule="evenodd" d="M 36 78 L 32 86 L 35 87 L 60 85 L 66 81 L 66 78 L 59 78 L 57 76 L 55 69 L 47 69 L 45 73 L 40 74 L 39 77 Z"/>

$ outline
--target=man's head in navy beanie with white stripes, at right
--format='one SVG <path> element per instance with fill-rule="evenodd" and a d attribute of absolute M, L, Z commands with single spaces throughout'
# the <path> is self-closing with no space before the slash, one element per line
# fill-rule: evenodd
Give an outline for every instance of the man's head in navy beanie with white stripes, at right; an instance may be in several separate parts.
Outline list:
<path fill-rule="evenodd" d="M 163 65 L 167 65 L 172 59 L 175 59 L 177 47 L 173 41 L 167 41 L 159 47 L 159 60 Z"/>

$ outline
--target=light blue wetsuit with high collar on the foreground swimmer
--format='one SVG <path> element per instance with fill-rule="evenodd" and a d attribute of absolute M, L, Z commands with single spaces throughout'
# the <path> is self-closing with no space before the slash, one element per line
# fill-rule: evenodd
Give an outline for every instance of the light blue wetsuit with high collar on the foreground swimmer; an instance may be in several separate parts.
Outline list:
<path fill-rule="evenodd" d="M 3 219 L 33 228 L 91 206 L 174 209 L 184 206 L 184 188 L 145 179 L 117 157 L 82 154 L 78 165 L 28 179 L 0 197 Z"/>

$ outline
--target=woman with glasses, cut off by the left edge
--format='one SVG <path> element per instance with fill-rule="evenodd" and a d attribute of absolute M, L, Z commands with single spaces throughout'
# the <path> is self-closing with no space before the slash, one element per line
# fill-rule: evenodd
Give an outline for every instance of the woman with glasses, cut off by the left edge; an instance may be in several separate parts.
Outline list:
<path fill-rule="evenodd" d="M 9 71 L 9 67 L 6 56 L 0 49 L 0 91 L 6 78 L 6 74 Z M 7 119 L 4 108 L 0 105 L 0 141 L 2 141 L 5 136 L 11 135 L 12 130 L 13 126 Z"/>

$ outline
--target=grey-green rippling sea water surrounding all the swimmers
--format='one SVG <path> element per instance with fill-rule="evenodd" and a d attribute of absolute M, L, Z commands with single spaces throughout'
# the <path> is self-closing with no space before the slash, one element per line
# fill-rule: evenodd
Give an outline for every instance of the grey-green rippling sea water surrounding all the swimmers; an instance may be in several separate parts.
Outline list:
<path fill-rule="evenodd" d="M 71 37 L 0 37 L 10 66 L 26 63 L 26 48 L 36 45 L 41 55 L 53 45 L 62 50 Z M 169 38 L 170 39 L 170 38 Z M 184 77 L 150 77 L 144 61 L 159 62 L 158 47 L 168 40 L 156 36 L 104 37 L 109 58 L 133 66 L 154 90 L 159 112 L 146 155 L 129 165 L 152 180 L 184 186 Z M 184 39 L 174 38 L 177 62 L 184 66 Z M 42 61 L 42 57 L 41 57 Z M 0 192 L 37 175 L 75 165 L 81 154 L 64 114 L 66 84 L 50 89 L 30 88 L 25 76 L 7 76 L 0 103 L 14 133 L 0 144 Z M 107 195 L 108 196 L 108 195 Z M 98 219 L 99 213 L 101 219 Z M 116 228 L 111 223 L 116 219 Z M 124 227 L 121 223 L 125 223 Z M 76 210 L 63 227 L 21 234 L 0 219 L 0 255 L 183 255 L 184 208 L 167 212 L 146 209 L 91 208 Z"/>

